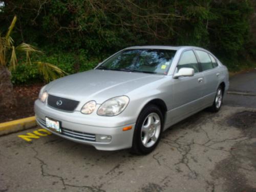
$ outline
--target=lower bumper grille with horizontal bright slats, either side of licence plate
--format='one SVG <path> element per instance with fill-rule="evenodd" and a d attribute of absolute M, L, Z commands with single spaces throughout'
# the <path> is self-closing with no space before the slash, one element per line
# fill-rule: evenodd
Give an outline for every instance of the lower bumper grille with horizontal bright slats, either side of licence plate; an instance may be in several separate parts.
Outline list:
<path fill-rule="evenodd" d="M 36 120 L 39 122 L 39 124 L 46 127 L 46 121 L 44 119 L 36 118 Z M 67 137 L 72 137 L 74 139 L 78 139 L 78 140 L 96 141 L 95 134 L 78 132 L 78 131 L 70 130 L 70 129 L 63 128 L 63 127 L 61 127 L 61 134 L 65 135 Z"/>

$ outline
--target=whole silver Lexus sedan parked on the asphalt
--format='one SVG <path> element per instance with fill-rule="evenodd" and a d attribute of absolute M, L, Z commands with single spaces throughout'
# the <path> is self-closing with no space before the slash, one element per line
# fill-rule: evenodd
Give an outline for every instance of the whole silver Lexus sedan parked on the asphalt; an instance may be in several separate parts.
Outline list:
<path fill-rule="evenodd" d="M 205 108 L 218 112 L 228 86 L 227 68 L 205 49 L 138 46 L 50 82 L 34 110 L 37 123 L 60 137 L 148 154 L 171 125 Z"/>

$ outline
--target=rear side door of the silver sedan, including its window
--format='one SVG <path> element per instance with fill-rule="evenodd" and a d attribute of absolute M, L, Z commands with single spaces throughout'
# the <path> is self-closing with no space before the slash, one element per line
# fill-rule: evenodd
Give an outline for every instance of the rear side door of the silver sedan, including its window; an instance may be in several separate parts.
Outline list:
<path fill-rule="evenodd" d="M 215 58 L 209 53 L 202 50 L 195 50 L 199 60 L 200 67 L 203 72 L 204 87 L 203 97 L 204 102 L 211 103 L 214 101 L 216 90 L 219 83 L 219 69 Z"/>

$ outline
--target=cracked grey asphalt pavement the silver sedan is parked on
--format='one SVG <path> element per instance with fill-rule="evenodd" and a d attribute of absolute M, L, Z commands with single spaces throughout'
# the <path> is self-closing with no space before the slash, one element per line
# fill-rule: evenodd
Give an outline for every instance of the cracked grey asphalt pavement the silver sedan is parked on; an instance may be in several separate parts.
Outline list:
<path fill-rule="evenodd" d="M 248 89 L 236 87 L 241 75 L 230 88 L 256 91 L 255 71 L 242 74 Z M 249 106 L 247 97 L 229 94 L 219 113 L 179 122 L 147 156 L 96 151 L 55 135 L 17 137 L 38 127 L 0 137 L 0 191 L 256 191 L 256 96 Z"/>

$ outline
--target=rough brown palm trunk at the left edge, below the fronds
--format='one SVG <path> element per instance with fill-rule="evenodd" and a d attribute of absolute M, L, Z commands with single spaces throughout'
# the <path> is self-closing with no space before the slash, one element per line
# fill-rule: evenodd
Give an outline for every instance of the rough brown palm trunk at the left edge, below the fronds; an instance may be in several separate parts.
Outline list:
<path fill-rule="evenodd" d="M 17 105 L 13 93 L 11 73 L 7 67 L 0 66 L 0 107 L 12 108 Z"/>

